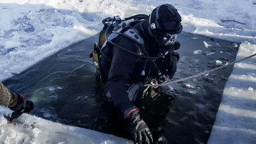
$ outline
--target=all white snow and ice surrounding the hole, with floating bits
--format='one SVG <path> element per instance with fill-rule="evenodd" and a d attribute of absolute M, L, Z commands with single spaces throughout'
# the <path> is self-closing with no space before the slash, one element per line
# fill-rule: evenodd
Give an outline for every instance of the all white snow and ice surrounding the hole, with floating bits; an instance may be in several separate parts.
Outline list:
<path fill-rule="evenodd" d="M 0 81 L 19 74 L 68 45 L 95 35 L 102 28 L 101 20 L 106 17 L 149 14 L 163 3 L 173 4 L 179 10 L 184 31 L 241 42 L 237 60 L 256 53 L 254 0 L 1 0 Z M 211 47 L 207 43 L 204 45 Z M 255 65 L 255 57 L 234 65 L 209 143 L 255 143 Z M 1 114 L 10 113 L 3 107 L 0 111 Z M 19 121 L 17 125 L 6 124 L 0 116 L 1 143 L 131 143 L 36 116 L 22 115 Z"/>

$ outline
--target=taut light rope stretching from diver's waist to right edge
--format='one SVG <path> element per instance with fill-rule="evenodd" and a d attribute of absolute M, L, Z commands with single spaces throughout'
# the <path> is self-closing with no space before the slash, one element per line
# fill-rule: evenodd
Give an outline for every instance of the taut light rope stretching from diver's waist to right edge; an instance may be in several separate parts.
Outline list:
<path fill-rule="evenodd" d="M 242 58 L 241 60 L 237 60 L 237 61 L 233 61 L 232 63 L 228 63 L 227 65 L 223 65 L 223 66 L 221 66 L 221 67 L 213 68 L 213 69 L 211 69 L 211 70 L 207 70 L 207 71 L 205 71 L 205 72 L 201 72 L 201 73 L 196 74 L 196 75 L 194 75 L 194 76 L 189 76 L 189 77 L 185 77 L 185 78 L 183 78 L 183 79 L 178 79 L 178 80 L 175 80 L 175 81 L 170 81 L 170 82 L 168 82 L 168 83 L 161 83 L 161 84 L 158 84 L 157 86 L 164 86 L 164 85 L 168 85 L 168 84 L 178 83 L 178 82 L 180 82 L 180 81 L 186 81 L 186 80 L 188 80 L 188 79 L 193 79 L 193 78 L 196 78 L 196 77 L 199 77 L 199 76 L 203 76 L 203 75 L 205 75 L 205 74 L 209 74 L 209 73 L 211 73 L 211 72 L 214 72 L 214 71 L 216 71 L 216 70 L 220 70 L 220 69 L 225 68 L 225 67 L 228 67 L 228 66 L 230 66 L 230 65 L 234 65 L 235 63 L 239 63 L 240 61 L 247 60 L 247 59 L 249 59 L 249 58 L 252 58 L 253 56 L 256 56 L 256 53 L 255 53 L 255 54 L 252 54 L 252 55 L 250 55 L 250 56 L 247 56 L 247 57 L 245 57 L 245 58 Z M 152 84 L 145 84 L 145 86 L 152 86 Z"/>

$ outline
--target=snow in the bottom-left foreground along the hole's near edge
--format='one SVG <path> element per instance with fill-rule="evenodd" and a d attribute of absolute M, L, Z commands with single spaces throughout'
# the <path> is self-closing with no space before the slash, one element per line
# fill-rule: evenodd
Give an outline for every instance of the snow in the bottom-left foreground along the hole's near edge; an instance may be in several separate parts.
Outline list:
<path fill-rule="evenodd" d="M 6 109 L 1 107 L 0 113 L 6 113 Z M 15 120 L 15 124 L 7 124 L 7 120 L 2 115 L 0 120 L 0 141 L 4 144 L 131 143 L 109 134 L 57 124 L 28 114 L 20 116 L 19 120 Z"/>

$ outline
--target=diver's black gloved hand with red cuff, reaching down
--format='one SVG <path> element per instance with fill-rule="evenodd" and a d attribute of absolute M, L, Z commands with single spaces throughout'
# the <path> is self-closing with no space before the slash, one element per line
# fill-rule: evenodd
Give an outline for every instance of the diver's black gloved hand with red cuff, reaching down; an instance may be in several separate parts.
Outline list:
<path fill-rule="evenodd" d="M 138 112 L 139 110 L 137 108 L 133 108 L 125 115 L 125 119 L 129 120 L 133 142 L 134 144 L 153 143 L 153 136 Z"/>

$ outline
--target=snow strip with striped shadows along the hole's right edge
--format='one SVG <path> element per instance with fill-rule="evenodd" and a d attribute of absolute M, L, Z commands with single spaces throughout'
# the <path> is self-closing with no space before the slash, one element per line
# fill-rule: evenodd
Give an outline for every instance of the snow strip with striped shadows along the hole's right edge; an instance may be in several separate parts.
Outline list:
<path fill-rule="evenodd" d="M 256 53 L 256 45 L 244 43 L 237 60 Z M 209 144 L 255 143 L 256 141 L 256 58 L 234 65 L 225 85 Z M 218 139 L 217 139 L 218 138 Z"/>

